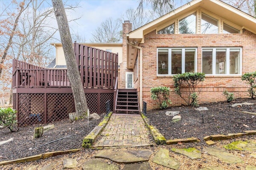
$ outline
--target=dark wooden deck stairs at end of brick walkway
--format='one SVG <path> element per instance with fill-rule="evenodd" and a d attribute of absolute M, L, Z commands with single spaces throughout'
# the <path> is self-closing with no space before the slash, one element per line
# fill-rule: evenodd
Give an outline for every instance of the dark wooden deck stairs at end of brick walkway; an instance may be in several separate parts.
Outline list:
<path fill-rule="evenodd" d="M 140 113 L 137 89 L 118 89 L 115 113 Z"/>

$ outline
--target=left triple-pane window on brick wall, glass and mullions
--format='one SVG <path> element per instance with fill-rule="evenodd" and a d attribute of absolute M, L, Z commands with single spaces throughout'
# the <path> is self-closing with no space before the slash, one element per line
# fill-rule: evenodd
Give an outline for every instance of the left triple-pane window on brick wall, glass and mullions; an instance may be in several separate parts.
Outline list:
<path fill-rule="evenodd" d="M 171 75 L 196 71 L 196 48 L 158 48 L 157 74 Z"/>

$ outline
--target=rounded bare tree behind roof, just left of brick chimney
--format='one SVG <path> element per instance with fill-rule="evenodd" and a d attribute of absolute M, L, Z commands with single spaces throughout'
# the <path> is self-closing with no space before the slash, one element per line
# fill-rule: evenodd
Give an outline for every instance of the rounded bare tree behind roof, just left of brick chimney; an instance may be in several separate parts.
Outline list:
<path fill-rule="evenodd" d="M 108 18 L 92 33 L 92 43 L 117 43 L 122 38 L 120 19 Z"/>

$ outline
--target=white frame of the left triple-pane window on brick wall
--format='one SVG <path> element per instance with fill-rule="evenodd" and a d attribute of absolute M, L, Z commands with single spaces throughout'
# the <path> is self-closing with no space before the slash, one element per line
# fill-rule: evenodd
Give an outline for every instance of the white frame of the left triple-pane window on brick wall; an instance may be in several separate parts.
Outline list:
<path fill-rule="evenodd" d="M 159 49 L 167 49 L 168 50 L 168 74 L 158 74 L 158 50 Z M 182 50 L 182 58 L 181 58 L 181 73 L 185 72 L 185 51 L 186 49 L 195 50 L 194 57 L 194 72 L 197 72 L 197 47 L 158 47 L 156 50 L 156 76 L 173 76 L 176 74 L 172 74 L 172 49 L 181 49 Z"/>

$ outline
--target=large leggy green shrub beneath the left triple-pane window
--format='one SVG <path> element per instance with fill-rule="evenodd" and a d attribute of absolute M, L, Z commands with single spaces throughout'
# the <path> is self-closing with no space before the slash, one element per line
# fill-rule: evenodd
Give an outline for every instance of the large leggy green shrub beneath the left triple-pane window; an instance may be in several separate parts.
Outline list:
<path fill-rule="evenodd" d="M 178 94 L 189 106 L 198 106 L 198 95 L 196 88 L 198 84 L 204 81 L 204 73 L 200 72 L 185 72 L 173 76 L 174 92 Z M 188 92 L 182 91 L 183 88 L 188 88 Z"/>

